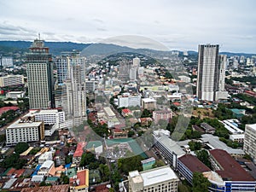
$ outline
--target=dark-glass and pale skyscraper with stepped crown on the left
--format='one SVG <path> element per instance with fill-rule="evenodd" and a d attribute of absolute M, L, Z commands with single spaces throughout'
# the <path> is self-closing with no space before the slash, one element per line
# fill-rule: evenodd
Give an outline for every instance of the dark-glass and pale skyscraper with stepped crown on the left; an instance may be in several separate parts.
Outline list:
<path fill-rule="evenodd" d="M 34 40 L 26 55 L 29 108 L 55 108 L 53 62 L 43 40 Z"/>

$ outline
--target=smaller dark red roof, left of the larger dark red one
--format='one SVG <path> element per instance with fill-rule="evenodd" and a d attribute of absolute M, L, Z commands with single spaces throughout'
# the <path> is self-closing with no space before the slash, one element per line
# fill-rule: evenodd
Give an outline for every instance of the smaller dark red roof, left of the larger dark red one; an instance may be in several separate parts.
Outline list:
<path fill-rule="evenodd" d="M 203 164 L 201 160 L 198 160 L 197 157 L 192 154 L 185 154 L 182 157 L 178 158 L 184 166 L 187 166 L 191 172 L 211 172 L 211 169 Z"/>

